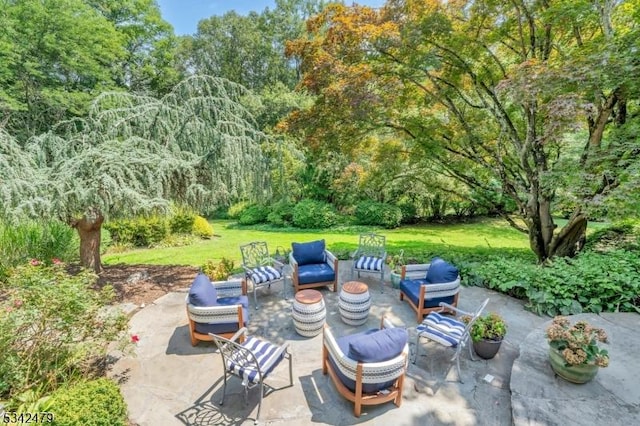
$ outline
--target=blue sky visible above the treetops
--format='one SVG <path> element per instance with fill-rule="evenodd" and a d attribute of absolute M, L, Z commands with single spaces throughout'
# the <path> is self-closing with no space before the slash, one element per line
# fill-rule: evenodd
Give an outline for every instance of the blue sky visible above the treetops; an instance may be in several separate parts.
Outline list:
<path fill-rule="evenodd" d="M 235 10 L 241 15 L 250 11 L 262 12 L 267 7 L 275 8 L 275 0 L 157 0 L 165 21 L 173 25 L 178 35 L 194 34 L 201 19 L 213 15 L 224 15 Z M 363 6 L 380 7 L 385 0 L 354 0 L 345 4 L 357 3 Z"/>

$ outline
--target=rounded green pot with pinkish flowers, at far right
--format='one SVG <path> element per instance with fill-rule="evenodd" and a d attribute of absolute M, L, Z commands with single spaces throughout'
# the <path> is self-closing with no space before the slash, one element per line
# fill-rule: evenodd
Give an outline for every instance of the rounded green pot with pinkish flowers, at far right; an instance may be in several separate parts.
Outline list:
<path fill-rule="evenodd" d="M 609 365 L 609 353 L 598 343 L 607 343 L 607 333 L 587 321 L 571 324 L 567 317 L 557 316 L 547 327 L 549 362 L 553 371 L 573 383 L 586 383 Z"/>

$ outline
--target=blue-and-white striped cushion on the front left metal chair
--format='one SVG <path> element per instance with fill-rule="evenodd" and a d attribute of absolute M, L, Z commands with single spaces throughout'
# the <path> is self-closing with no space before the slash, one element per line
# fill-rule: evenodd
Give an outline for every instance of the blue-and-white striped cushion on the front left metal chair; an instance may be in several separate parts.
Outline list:
<path fill-rule="evenodd" d="M 278 346 L 255 337 L 248 337 L 242 346 L 256 356 L 263 378 L 266 377 L 284 357 L 284 353 L 278 354 Z M 242 377 L 243 386 L 246 386 L 249 382 L 259 383 L 260 375 L 258 374 L 257 366 L 252 362 L 253 360 L 250 357 L 245 355 L 244 351 L 236 350 L 231 357 L 227 359 L 227 370 Z"/>

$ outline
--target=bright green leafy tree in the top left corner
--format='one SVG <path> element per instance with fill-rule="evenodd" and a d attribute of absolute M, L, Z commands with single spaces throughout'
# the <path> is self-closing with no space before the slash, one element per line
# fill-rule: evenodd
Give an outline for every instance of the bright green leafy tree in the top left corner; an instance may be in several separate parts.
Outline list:
<path fill-rule="evenodd" d="M 14 136 L 86 114 L 101 90 L 115 88 L 120 35 L 86 2 L 0 0 L 0 9 L 0 123 Z"/>

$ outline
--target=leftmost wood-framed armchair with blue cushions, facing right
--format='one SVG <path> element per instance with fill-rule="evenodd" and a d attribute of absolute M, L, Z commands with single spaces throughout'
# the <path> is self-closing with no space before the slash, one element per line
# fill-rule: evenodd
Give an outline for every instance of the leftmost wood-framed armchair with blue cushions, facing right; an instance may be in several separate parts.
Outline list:
<path fill-rule="evenodd" d="M 211 341 L 210 333 L 231 337 L 249 321 L 249 298 L 244 280 L 215 281 L 199 273 L 187 295 L 191 345 Z"/>

